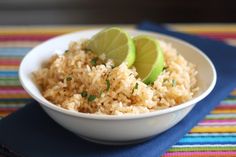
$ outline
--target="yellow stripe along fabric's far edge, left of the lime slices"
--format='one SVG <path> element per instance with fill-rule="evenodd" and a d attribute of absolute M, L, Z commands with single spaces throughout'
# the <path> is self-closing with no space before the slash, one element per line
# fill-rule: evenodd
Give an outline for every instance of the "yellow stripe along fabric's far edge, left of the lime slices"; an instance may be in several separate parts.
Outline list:
<path fill-rule="evenodd" d="M 62 34 L 114 25 L 75 25 L 75 26 L 12 26 L 0 27 L 0 34 Z M 115 25 L 122 28 L 133 28 L 134 25 Z"/>

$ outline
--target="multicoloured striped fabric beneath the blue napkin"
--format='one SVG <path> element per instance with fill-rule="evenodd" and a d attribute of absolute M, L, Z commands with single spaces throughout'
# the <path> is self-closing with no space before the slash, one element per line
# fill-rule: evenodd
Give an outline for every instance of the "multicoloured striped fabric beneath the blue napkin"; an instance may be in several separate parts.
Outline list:
<path fill-rule="evenodd" d="M 18 80 L 20 61 L 32 47 L 53 36 L 94 27 L 101 26 L 0 27 L 0 117 L 32 100 Z M 236 45 L 236 24 L 175 24 L 167 27 Z M 236 89 L 163 155 L 190 156 L 236 157 Z"/>

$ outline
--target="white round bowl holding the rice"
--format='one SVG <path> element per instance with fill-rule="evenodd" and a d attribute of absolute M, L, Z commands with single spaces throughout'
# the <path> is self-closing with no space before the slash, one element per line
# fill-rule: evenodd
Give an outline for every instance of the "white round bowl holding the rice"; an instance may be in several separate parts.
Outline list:
<path fill-rule="evenodd" d="M 52 119 L 78 136 L 103 144 L 128 144 L 146 140 L 177 124 L 215 86 L 214 65 L 201 50 L 167 35 L 129 29 L 127 31 L 132 36 L 147 34 L 171 43 L 188 61 L 197 65 L 200 91 L 193 99 L 160 111 L 123 116 L 78 113 L 47 101 L 32 81 L 32 72 L 38 70 L 42 62 L 48 60 L 55 50 L 59 50 L 57 53 L 62 53 L 71 41 L 90 38 L 98 31 L 100 29 L 75 32 L 50 39 L 32 49 L 22 60 L 19 69 L 20 81 L 24 89 L 40 103 Z"/>

